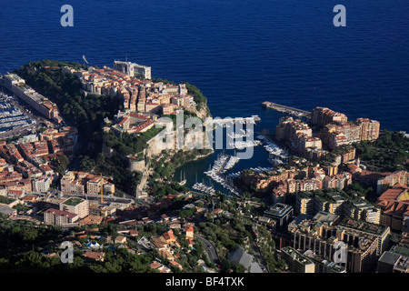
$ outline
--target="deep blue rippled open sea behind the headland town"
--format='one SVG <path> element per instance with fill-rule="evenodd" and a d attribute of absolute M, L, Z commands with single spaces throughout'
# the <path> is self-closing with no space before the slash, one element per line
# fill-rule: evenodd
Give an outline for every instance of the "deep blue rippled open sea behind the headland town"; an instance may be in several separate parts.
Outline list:
<path fill-rule="evenodd" d="M 73 27 L 60 25 L 65 4 Z M 345 27 L 333 25 L 338 4 Z M 260 115 L 258 129 L 274 130 L 280 116 L 261 108 L 268 100 L 409 131 L 408 13 L 407 0 L 3 0 L 0 72 L 45 58 L 109 66 L 126 57 L 198 86 L 214 116 Z M 254 159 L 239 165 L 268 166 L 263 153 Z"/>

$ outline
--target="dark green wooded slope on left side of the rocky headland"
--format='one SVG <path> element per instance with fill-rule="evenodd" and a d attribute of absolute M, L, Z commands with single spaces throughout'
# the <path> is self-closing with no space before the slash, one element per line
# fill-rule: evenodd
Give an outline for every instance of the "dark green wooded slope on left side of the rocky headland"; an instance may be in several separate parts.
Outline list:
<path fill-rule="evenodd" d="M 55 102 L 65 122 L 78 128 L 81 154 L 93 156 L 101 149 L 103 119 L 112 118 L 121 109 L 121 100 L 108 95 L 81 95 L 81 82 L 75 75 L 63 73 L 61 68 L 65 65 L 82 67 L 76 63 L 42 60 L 23 65 L 16 73 L 35 91 Z"/>

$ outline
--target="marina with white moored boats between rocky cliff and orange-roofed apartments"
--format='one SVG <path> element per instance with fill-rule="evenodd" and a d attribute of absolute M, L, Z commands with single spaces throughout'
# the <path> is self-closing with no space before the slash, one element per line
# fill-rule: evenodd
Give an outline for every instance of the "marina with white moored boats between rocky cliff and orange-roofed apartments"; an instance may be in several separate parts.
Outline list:
<path fill-rule="evenodd" d="M 195 163 L 188 163 L 177 169 L 175 181 L 184 183 L 194 193 L 213 195 L 221 191 L 226 195 L 241 196 L 243 189 L 240 188 L 240 176 L 244 169 L 254 169 L 255 172 L 268 172 L 278 166 L 284 165 L 288 158 L 287 150 L 284 146 L 274 141 L 274 136 L 270 135 L 265 128 L 272 128 L 268 118 L 270 115 L 277 115 L 273 112 L 261 111 L 261 115 L 251 115 L 253 118 L 224 118 L 218 123 L 219 126 L 232 127 L 238 125 L 238 128 L 232 128 L 223 132 L 224 147 L 215 150 L 214 155 L 208 156 Z M 257 118 L 258 117 L 258 118 Z M 224 122 L 222 122 L 224 120 Z M 225 123 L 225 121 L 229 123 Z M 245 120 L 257 121 L 254 127 L 243 126 L 240 123 Z M 259 120 L 264 120 L 258 123 Z M 274 119 L 272 119 L 274 120 Z M 235 124 L 234 124 L 235 123 Z M 235 126 L 234 126 L 235 127 Z M 223 164 L 226 162 L 224 156 L 236 156 L 245 148 L 254 148 L 251 158 L 239 159 L 234 163 L 234 167 L 226 169 Z M 233 162 L 234 160 L 232 160 Z M 229 168 L 229 166 L 227 166 Z M 222 170 L 224 169 L 224 170 Z M 182 172 L 182 173 L 181 173 Z M 223 172 L 223 173 L 222 173 Z M 186 182 L 185 182 L 186 181 Z"/>

